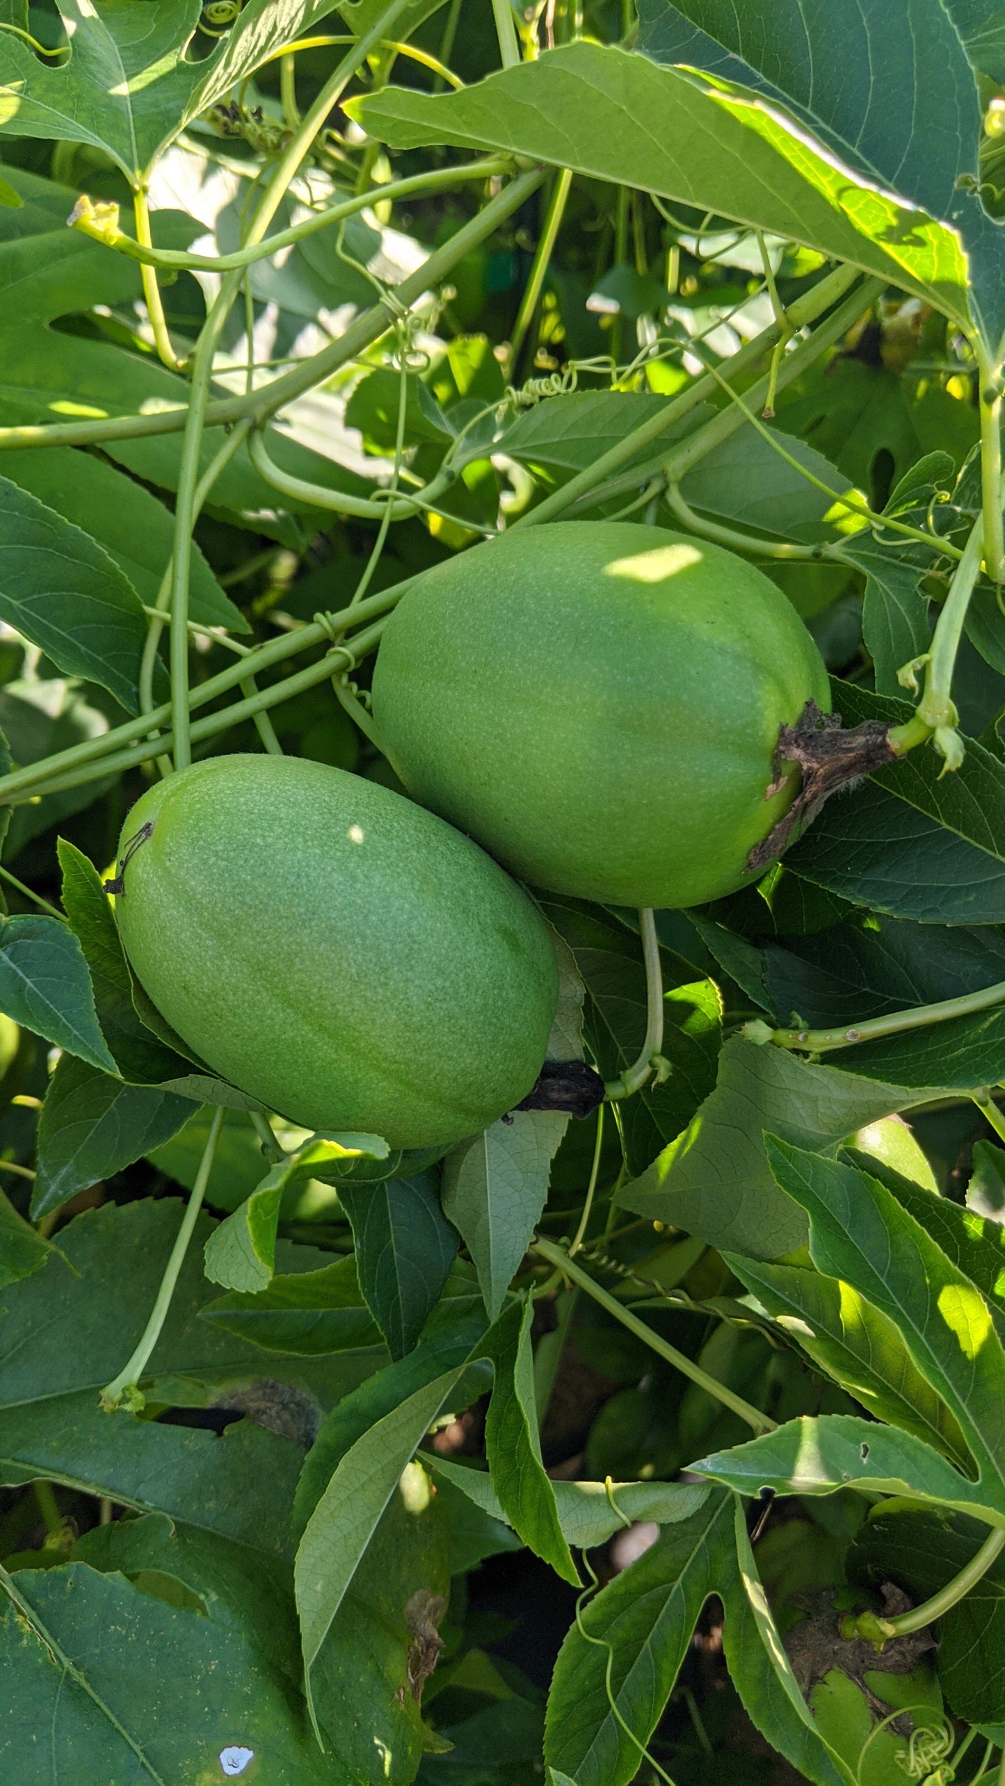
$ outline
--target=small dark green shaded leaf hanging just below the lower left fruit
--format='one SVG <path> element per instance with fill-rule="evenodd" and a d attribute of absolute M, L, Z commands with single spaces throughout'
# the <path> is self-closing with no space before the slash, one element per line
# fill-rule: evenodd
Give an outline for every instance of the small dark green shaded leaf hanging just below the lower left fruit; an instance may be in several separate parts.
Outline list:
<path fill-rule="evenodd" d="M 418 1341 L 458 1250 L 445 1220 L 436 1179 L 386 1179 L 370 1188 L 343 1188 L 340 1202 L 352 1223 L 359 1288 L 392 1357 Z"/>

